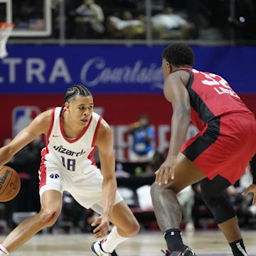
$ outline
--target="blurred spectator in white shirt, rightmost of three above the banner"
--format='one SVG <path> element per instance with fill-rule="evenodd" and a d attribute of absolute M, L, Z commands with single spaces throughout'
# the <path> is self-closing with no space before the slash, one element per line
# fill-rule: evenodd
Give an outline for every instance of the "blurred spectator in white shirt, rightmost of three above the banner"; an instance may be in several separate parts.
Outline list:
<path fill-rule="evenodd" d="M 170 6 L 151 18 L 153 36 L 159 39 L 193 39 L 195 26 L 185 18 L 174 14 Z"/>

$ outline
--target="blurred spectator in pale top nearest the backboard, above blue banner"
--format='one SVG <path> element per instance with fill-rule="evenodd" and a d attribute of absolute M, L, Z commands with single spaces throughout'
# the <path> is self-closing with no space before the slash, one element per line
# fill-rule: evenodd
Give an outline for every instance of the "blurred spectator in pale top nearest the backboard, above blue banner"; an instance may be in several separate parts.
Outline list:
<path fill-rule="evenodd" d="M 100 38 L 105 32 L 102 8 L 94 0 L 85 0 L 75 10 L 75 15 L 76 38 Z"/>

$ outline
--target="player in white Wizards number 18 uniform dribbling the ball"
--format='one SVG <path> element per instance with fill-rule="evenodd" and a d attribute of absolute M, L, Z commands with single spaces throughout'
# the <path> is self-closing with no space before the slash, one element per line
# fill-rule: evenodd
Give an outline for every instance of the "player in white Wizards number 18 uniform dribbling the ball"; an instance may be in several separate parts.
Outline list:
<path fill-rule="evenodd" d="M 91 246 L 92 252 L 96 256 L 117 255 L 115 247 L 136 235 L 139 223 L 117 192 L 112 131 L 93 112 L 91 92 L 82 85 L 70 87 L 63 107 L 39 114 L 10 144 L 0 149 L 0 165 L 40 134 L 47 137 L 39 170 L 41 211 L 6 237 L 0 245 L 0 256 L 13 252 L 39 230 L 55 223 L 62 208 L 63 191 L 70 192 L 81 206 L 101 214 L 92 223 L 97 238 Z M 96 147 L 102 173 L 93 160 Z M 107 235 L 110 221 L 114 228 Z M 105 235 L 107 238 L 103 240 Z"/>

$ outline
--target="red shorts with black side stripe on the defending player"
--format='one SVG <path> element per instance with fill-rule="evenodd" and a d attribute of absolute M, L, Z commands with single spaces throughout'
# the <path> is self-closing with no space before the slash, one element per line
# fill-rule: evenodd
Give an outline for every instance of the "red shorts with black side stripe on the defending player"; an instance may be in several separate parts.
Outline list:
<path fill-rule="evenodd" d="M 256 120 L 242 113 L 216 117 L 181 152 L 210 180 L 219 174 L 234 184 L 256 154 Z"/>

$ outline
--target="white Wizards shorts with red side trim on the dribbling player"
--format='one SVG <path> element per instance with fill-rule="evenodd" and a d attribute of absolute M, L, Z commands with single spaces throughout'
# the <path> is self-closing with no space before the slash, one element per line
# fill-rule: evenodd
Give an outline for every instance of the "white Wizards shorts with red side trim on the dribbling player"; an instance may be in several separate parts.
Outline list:
<path fill-rule="evenodd" d="M 50 164 L 47 168 L 41 169 L 40 178 L 40 197 L 45 191 L 53 189 L 60 193 L 68 191 L 75 201 L 85 208 L 103 204 L 103 176 L 99 169 L 95 169 L 90 174 L 75 174 L 62 166 Z M 122 200 L 122 196 L 117 191 L 114 205 Z"/>

